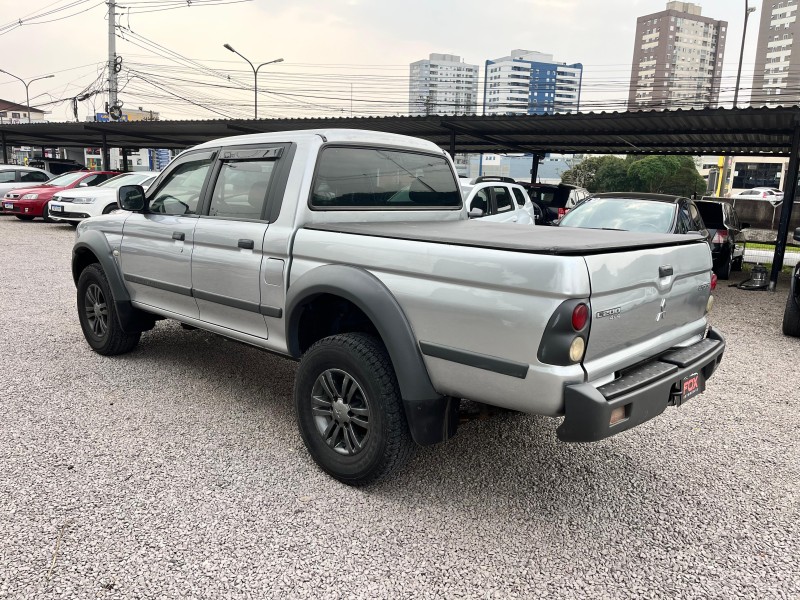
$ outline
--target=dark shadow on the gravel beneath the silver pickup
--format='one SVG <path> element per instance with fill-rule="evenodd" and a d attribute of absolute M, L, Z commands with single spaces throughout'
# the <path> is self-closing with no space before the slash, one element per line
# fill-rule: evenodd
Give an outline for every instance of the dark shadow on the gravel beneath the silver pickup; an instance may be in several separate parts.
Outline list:
<path fill-rule="evenodd" d="M 683 489 L 678 473 L 652 464 L 659 462 L 657 446 L 668 442 L 649 440 L 644 456 L 636 442 L 641 436 L 635 433 L 594 444 L 565 444 L 556 437 L 558 419 L 497 409 L 483 416 L 481 405 L 471 403 L 462 403 L 462 414 L 471 418 L 450 441 L 418 448 L 410 463 L 387 481 L 346 488 L 318 471 L 305 454 L 292 401 L 295 362 L 214 334 L 183 330 L 176 323 L 160 323 L 146 333 L 125 361 L 140 363 L 154 376 L 161 369 L 187 383 L 213 382 L 205 402 L 247 405 L 259 418 L 271 419 L 298 450 L 284 459 L 301 464 L 286 468 L 317 474 L 317 483 L 332 493 L 344 488 L 347 494 L 387 502 L 402 497 L 437 510 L 442 503 L 444 510 L 506 507 L 548 514 L 557 522 L 587 514 L 615 519 L 612 506 L 614 513 L 624 509 L 626 519 L 648 518 L 660 512 L 658 498 Z"/>

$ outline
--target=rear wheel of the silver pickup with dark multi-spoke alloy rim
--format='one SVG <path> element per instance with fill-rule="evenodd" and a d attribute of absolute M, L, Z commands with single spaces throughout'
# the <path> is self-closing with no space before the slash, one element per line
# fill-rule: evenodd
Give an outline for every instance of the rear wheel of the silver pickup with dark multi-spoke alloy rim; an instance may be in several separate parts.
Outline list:
<path fill-rule="evenodd" d="M 384 479 L 413 453 L 391 360 L 373 336 L 346 333 L 314 344 L 300 360 L 294 400 L 311 457 L 342 483 Z"/>

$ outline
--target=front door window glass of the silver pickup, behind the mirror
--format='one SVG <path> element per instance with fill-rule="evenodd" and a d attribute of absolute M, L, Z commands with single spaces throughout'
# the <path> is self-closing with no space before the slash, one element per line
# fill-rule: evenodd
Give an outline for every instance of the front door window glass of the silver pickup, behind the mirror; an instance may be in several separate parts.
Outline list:
<path fill-rule="evenodd" d="M 187 157 L 164 178 L 150 199 L 150 212 L 165 215 L 194 215 L 214 157 L 210 153 Z"/>

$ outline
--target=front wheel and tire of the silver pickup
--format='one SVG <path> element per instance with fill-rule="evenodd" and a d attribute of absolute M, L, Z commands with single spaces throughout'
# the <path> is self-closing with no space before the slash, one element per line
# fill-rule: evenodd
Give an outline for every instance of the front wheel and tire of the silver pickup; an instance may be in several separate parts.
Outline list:
<path fill-rule="evenodd" d="M 78 278 L 78 318 L 89 346 L 103 356 L 130 352 L 142 336 L 122 331 L 111 286 L 97 263 L 86 267 Z"/>

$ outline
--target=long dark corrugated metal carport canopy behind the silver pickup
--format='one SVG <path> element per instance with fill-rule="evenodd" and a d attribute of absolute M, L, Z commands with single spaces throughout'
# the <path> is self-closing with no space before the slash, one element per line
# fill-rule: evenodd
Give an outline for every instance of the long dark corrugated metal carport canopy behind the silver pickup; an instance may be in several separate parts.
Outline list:
<path fill-rule="evenodd" d="M 8 146 L 186 148 L 243 133 L 347 127 L 412 135 L 455 152 L 789 156 L 800 108 L 519 116 L 338 117 L 0 125 Z M 105 140 L 103 140 L 105 137 Z"/>

